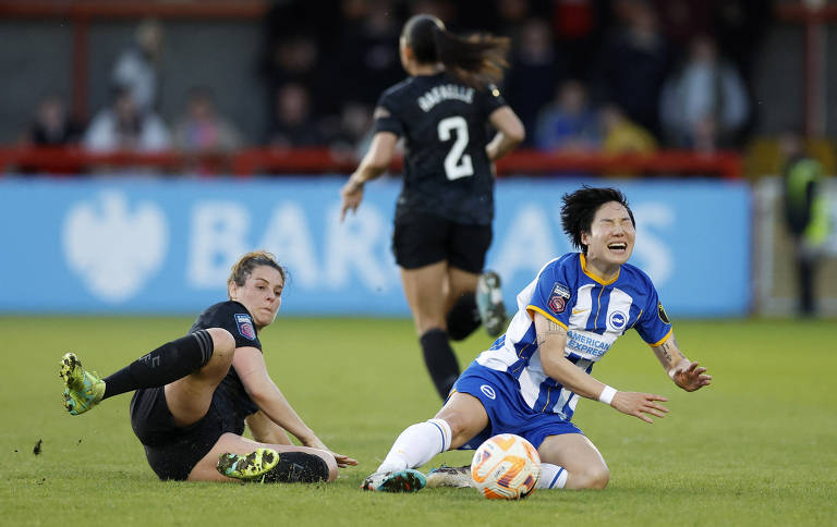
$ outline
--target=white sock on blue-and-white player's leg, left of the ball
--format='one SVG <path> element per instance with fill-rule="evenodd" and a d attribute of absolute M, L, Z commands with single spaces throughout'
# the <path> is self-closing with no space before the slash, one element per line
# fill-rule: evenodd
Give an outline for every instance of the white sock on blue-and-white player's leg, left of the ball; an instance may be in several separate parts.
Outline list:
<path fill-rule="evenodd" d="M 450 426 L 442 419 L 413 425 L 398 437 L 378 471 L 420 467 L 436 454 L 450 449 L 451 436 Z"/>

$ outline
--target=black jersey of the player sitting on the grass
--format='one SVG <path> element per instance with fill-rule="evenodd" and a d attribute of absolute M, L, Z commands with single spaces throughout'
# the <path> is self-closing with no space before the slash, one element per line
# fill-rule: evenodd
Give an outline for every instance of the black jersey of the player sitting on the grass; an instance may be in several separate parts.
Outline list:
<path fill-rule="evenodd" d="M 235 347 L 252 346 L 259 351 L 262 343 L 256 334 L 256 327 L 253 323 L 253 317 L 243 304 L 235 301 L 227 301 L 209 306 L 197 316 L 195 323 L 192 324 L 190 333 L 199 329 L 223 328 L 235 339 Z M 244 385 L 241 383 L 235 368 L 230 366 L 230 371 L 218 384 L 215 390 L 215 396 L 222 396 L 227 400 L 235 414 L 236 420 L 243 426 L 243 420 L 251 414 L 258 410 L 256 403 L 250 399 Z"/>

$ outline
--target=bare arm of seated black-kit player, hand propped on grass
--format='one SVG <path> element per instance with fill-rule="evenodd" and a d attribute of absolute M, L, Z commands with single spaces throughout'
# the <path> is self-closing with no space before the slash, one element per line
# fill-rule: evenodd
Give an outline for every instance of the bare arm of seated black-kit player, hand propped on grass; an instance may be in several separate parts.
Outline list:
<path fill-rule="evenodd" d="M 291 432 L 303 445 L 331 452 L 296 415 L 282 392 L 270 379 L 262 352 L 255 347 L 238 347 L 232 358 L 232 366 L 235 368 L 241 383 L 244 384 L 247 395 L 265 416 Z M 357 464 L 350 457 L 331 453 L 340 467 Z"/>

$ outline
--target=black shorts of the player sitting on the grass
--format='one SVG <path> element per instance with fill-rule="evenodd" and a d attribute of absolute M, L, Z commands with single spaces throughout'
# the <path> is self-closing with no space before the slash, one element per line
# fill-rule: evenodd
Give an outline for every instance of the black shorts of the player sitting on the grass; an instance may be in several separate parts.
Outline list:
<path fill-rule="evenodd" d="M 243 433 L 222 396 L 213 396 L 206 415 L 187 427 L 178 427 L 166 404 L 162 387 L 137 390 L 131 400 L 131 427 L 145 446 L 145 456 L 162 479 L 185 480 L 226 432 Z"/>

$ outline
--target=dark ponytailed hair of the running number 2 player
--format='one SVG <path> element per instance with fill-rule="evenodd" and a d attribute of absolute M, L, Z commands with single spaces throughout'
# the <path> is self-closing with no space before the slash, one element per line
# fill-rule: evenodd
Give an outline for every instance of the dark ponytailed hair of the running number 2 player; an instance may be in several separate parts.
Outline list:
<path fill-rule="evenodd" d="M 487 86 L 502 81 L 508 66 L 509 38 L 494 35 L 460 37 L 447 30 L 436 16 L 412 16 L 401 32 L 418 63 L 441 62 L 460 81 L 471 86 Z"/>

